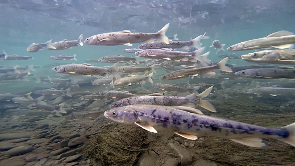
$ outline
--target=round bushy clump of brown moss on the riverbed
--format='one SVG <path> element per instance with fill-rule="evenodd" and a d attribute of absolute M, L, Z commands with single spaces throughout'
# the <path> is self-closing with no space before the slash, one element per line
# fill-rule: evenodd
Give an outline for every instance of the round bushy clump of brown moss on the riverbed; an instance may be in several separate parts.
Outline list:
<path fill-rule="evenodd" d="M 102 165 L 129 166 L 150 142 L 148 131 L 133 125 L 114 124 L 91 137 L 84 156 Z"/>

